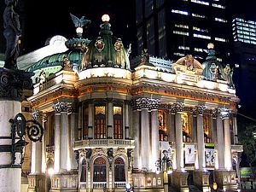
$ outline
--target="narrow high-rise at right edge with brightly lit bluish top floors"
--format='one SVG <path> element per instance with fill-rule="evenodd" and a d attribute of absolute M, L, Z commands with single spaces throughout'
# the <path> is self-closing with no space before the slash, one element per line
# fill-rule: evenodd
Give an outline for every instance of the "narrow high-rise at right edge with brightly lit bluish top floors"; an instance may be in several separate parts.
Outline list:
<path fill-rule="evenodd" d="M 253 112 L 256 90 L 252 89 L 256 73 L 256 21 L 235 18 L 232 20 L 232 32 L 234 61 L 238 64 L 235 84 L 239 90 L 237 95 L 241 98 L 240 111 L 256 118 Z"/>

